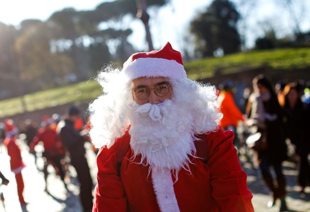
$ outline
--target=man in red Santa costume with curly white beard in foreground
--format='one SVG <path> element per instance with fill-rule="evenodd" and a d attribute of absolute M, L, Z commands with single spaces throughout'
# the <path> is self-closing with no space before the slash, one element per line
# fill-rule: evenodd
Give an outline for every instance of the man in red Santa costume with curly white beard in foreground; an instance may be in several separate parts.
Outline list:
<path fill-rule="evenodd" d="M 93 212 L 252 212 L 216 89 L 186 77 L 170 43 L 106 67 L 90 105 L 96 148 Z"/>

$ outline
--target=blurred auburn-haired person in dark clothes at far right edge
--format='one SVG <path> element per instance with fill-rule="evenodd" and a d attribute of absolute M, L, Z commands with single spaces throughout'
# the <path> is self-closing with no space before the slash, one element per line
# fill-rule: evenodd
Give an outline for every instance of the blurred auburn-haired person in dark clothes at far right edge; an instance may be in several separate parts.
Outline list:
<path fill-rule="evenodd" d="M 310 183 L 310 164 L 308 154 L 310 153 L 310 142 L 307 136 L 309 130 L 309 109 L 302 103 L 300 89 L 297 83 L 289 83 L 285 86 L 284 94 L 284 116 L 285 133 L 295 147 L 299 156 L 298 183 L 301 187 L 300 194 L 305 195 L 305 187 Z"/>

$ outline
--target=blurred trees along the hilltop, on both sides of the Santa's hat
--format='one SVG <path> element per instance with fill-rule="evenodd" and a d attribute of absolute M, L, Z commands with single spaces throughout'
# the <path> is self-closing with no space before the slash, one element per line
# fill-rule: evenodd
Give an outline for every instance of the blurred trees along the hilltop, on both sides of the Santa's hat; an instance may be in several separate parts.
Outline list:
<path fill-rule="evenodd" d="M 151 14 L 144 15 L 144 20 L 145 17 L 150 18 L 151 24 L 155 19 L 161 18 L 157 15 L 160 13 L 154 9 L 170 2 L 144 1 Z M 232 1 L 237 3 L 237 7 Z M 301 1 L 296 0 L 294 4 L 304 8 Z M 128 42 L 128 36 L 133 32 L 129 23 L 141 15 L 141 11 L 137 11 L 138 8 L 141 9 L 137 7 L 138 2 L 139 0 L 114 0 L 102 2 L 93 10 L 83 11 L 64 8 L 54 12 L 46 21 L 29 19 L 16 27 L 0 23 L 0 99 L 65 85 L 74 80 L 89 79 L 110 61 L 122 64 L 132 53 L 149 50 L 134 49 Z M 185 43 L 183 58 L 197 59 L 240 51 L 238 30 L 242 32 L 243 40 L 246 30 L 237 25 L 240 20 L 246 19 L 243 11 L 250 11 L 248 14 L 252 14 L 252 8 L 255 7 L 253 2 L 256 1 L 213 0 L 190 23 L 189 31 L 192 34 L 188 33 L 187 37 L 180 38 L 180 43 Z M 277 29 L 265 30 L 265 34 L 256 34 L 259 37 L 257 49 L 296 46 L 295 41 L 299 42 L 298 46 L 309 46 L 310 32 L 301 31 L 300 28 L 301 20 L 307 16 L 302 15 L 302 9 L 293 10 L 293 1 L 283 2 L 279 5 L 285 6 L 283 9 L 286 8 L 292 16 L 296 39 L 278 38 Z M 248 30 L 253 29 L 248 22 L 243 23 L 243 26 L 248 26 Z M 188 29 L 185 31 L 188 32 Z M 295 45 L 292 45 L 293 42 Z M 196 55 L 192 55 L 194 46 Z"/>

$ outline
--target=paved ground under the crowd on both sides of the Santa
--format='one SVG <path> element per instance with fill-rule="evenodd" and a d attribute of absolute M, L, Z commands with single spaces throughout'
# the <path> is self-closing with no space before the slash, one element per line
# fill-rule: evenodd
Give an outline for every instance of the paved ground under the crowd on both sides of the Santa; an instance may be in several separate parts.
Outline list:
<path fill-rule="evenodd" d="M 27 165 L 23 169 L 23 177 L 25 182 L 24 197 L 28 202 L 28 212 L 81 212 L 81 205 L 79 203 L 79 188 L 76 181 L 76 172 L 74 168 L 69 167 L 70 170 L 70 184 L 68 185 L 69 192 L 67 192 L 59 177 L 55 176 L 54 169 L 49 167 L 48 171 L 51 173 L 48 178 L 47 194 L 45 189 L 43 172 L 39 171 L 34 166 L 34 158 L 29 154 L 27 146 L 20 142 L 22 149 L 22 157 L 24 163 Z M 96 183 L 96 164 L 95 154 L 93 153 L 90 144 L 86 145 L 88 162 L 91 167 L 91 174 L 94 184 Z M 8 186 L 1 186 L 5 196 L 6 212 L 22 212 L 19 204 L 16 191 L 16 182 L 14 175 L 10 172 L 9 157 L 6 155 L 4 147 L 0 146 L 0 170 L 11 181 Z M 279 211 L 279 202 L 271 209 L 266 207 L 268 201 L 268 190 L 264 186 L 260 178 L 259 170 L 253 167 L 250 160 L 244 155 L 240 156 L 240 162 L 243 169 L 248 173 L 248 188 L 253 193 L 252 203 L 256 212 L 275 212 Z M 39 167 L 42 167 L 43 161 L 38 161 Z M 298 193 L 298 186 L 296 186 L 296 164 L 285 162 L 284 174 L 287 179 L 287 205 L 289 212 L 310 212 L 310 187 L 307 187 L 306 197 L 300 197 Z M 0 212 L 4 209 L 0 203 Z"/>

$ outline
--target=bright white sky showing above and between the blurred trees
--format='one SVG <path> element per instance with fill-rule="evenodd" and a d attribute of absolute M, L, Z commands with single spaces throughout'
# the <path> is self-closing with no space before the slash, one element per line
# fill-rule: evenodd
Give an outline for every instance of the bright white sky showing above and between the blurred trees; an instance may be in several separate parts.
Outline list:
<path fill-rule="evenodd" d="M 98 4 L 108 0 L 3 0 L 0 2 L 0 22 L 17 26 L 22 20 L 36 18 L 45 21 L 55 11 L 65 7 L 73 7 L 76 10 L 92 10 Z M 112 1 L 112 0 L 109 0 Z M 171 3 L 161 8 L 156 14 L 150 14 L 150 29 L 155 49 L 160 48 L 164 43 L 170 41 L 172 46 L 181 50 L 183 34 L 188 30 L 189 21 L 193 19 L 197 11 L 204 11 L 212 0 L 171 0 Z M 233 0 L 238 3 L 242 0 Z M 278 0 L 278 2 L 281 0 Z M 306 2 L 304 10 L 310 10 L 310 0 Z M 255 10 L 250 10 L 248 18 L 248 46 L 254 45 L 257 36 L 263 36 L 262 23 L 269 21 L 274 28 L 279 30 L 279 36 L 287 33 L 291 27 L 288 21 L 288 14 L 283 12 L 277 0 L 255 0 Z M 301 14 L 301 13 L 298 13 Z M 310 30 L 310 13 L 306 13 L 302 24 L 303 30 Z M 125 22 L 126 24 L 126 22 Z M 140 20 L 128 22 L 134 29 L 129 37 L 129 42 L 142 49 L 147 49 L 145 42 L 145 31 Z M 281 34 L 282 33 L 282 34 Z"/>

